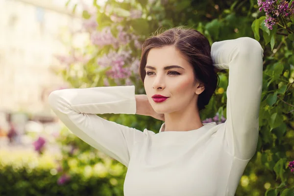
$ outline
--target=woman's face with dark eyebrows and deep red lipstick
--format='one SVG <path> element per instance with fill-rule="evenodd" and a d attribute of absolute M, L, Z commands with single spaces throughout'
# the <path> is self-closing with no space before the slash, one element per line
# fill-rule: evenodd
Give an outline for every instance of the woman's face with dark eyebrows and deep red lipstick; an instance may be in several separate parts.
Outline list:
<path fill-rule="evenodd" d="M 159 114 L 196 108 L 197 97 L 204 91 L 195 82 L 192 65 L 173 46 L 150 49 L 144 87 L 152 108 Z M 158 102 L 152 98 L 154 95 L 168 98 Z"/>

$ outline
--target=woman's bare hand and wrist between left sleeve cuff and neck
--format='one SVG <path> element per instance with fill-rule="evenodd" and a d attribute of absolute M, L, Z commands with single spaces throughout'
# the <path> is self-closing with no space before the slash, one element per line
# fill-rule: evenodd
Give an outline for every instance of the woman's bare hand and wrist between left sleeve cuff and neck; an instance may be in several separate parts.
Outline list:
<path fill-rule="evenodd" d="M 135 95 L 136 98 L 136 114 L 151 116 L 160 121 L 164 121 L 164 114 L 156 113 L 150 102 L 148 101 L 147 95 Z"/>

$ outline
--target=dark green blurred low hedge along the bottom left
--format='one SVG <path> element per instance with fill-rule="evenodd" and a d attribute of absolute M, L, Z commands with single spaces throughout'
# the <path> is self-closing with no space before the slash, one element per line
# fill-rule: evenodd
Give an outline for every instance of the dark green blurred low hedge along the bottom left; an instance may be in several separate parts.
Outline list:
<path fill-rule="evenodd" d="M 122 196 L 123 179 L 111 176 L 84 178 L 82 173 L 71 173 L 71 180 L 58 185 L 59 176 L 50 170 L 26 168 L 15 170 L 12 166 L 1 167 L 1 196 Z M 116 183 L 112 185 L 111 182 Z"/>

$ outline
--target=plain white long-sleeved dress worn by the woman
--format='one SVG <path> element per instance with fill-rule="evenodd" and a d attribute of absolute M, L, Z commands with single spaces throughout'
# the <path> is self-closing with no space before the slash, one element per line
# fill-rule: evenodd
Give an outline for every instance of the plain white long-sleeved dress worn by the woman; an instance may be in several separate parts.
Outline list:
<path fill-rule="evenodd" d="M 159 133 L 96 114 L 135 114 L 135 87 L 64 89 L 49 95 L 59 119 L 80 139 L 127 167 L 124 196 L 233 196 L 256 151 L 263 49 L 251 38 L 216 42 L 214 66 L 229 69 L 227 120 Z"/>

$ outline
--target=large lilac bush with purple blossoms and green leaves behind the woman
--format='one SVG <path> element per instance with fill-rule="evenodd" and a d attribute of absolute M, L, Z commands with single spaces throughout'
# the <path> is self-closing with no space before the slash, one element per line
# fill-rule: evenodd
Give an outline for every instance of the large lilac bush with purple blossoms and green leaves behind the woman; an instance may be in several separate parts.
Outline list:
<path fill-rule="evenodd" d="M 136 94 L 145 93 L 138 73 L 141 45 L 158 28 L 194 26 L 211 43 L 254 36 L 264 48 L 259 141 L 236 196 L 283 195 L 293 190 L 293 173 L 286 170 L 287 160 L 294 159 L 292 0 L 108 0 L 105 6 L 93 0 L 93 7 L 84 7 L 83 17 L 83 29 L 79 32 L 89 34 L 89 44 L 83 49 L 72 49 L 68 56 L 59 56 L 66 65 L 60 72 L 73 88 L 135 85 Z M 200 114 L 203 123 L 225 121 L 228 71 L 221 71 L 219 76 L 217 95 Z M 101 116 L 140 130 L 148 124 L 147 128 L 155 132 L 162 123 L 140 115 Z M 64 155 L 59 160 L 60 181 L 68 180 L 65 176 L 77 165 L 85 171 L 91 171 L 86 169 L 88 166 L 105 171 L 97 164 L 107 165 L 107 161 L 101 158 L 103 155 L 91 153 L 95 149 L 71 135 L 60 138 L 64 139 L 60 140 Z M 120 167 L 111 161 L 114 167 Z M 291 171 L 293 165 L 288 167 Z M 118 176 L 122 177 L 125 168 L 120 171 Z"/>

